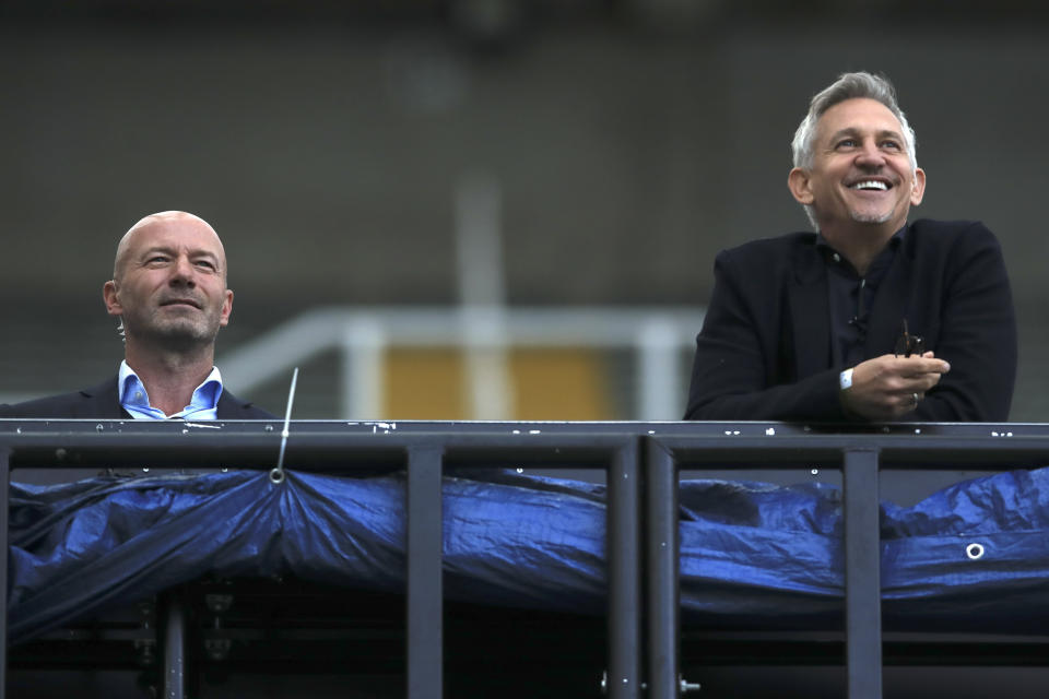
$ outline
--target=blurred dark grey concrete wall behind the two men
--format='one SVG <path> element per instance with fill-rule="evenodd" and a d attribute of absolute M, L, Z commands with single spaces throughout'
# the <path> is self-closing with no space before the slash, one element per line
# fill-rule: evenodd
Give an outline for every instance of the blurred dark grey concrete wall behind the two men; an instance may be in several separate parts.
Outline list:
<path fill-rule="evenodd" d="M 36 309 L 61 327 L 68 307 L 108 333 L 117 238 L 173 208 L 223 236 L 235 324 L 455 303 L 455 197 L 478 173 L 502 190 L 509 303 L 704 304 L 719 249 L 805 227 L 790 137 L 813 92 L 867 69 L 918 131 L 917 214 L 999 234 L 1024 322 L 1014 418 L 1045 419 L 1047 28 L 852 16 L 562 22 L 495 52 L 426 23 L 10 21 L 4 323 L 32 335 Z"/>

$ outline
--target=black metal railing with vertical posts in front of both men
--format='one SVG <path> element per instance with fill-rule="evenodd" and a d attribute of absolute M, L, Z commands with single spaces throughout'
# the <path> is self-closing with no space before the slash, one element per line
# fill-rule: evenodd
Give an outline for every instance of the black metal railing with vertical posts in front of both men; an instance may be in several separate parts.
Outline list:
<path fill-rule="evenodd" d="M 216 429 L 215 425 L 221 425 Z M 0 475 L 17 469 L 270 470 L 281 424 L 0 420 Z M 408 474 L 406 692 L 443 687 L 441 478 L 449 467 L 600 469 L 608 484 L 608 696 L 682 690 L 677 490 L 682 470 L 809 467 L 842 472 L 848 696 L 882 696 L 879 472 L 1034 467 L 1046 425 L 886 425 L 861 431 L 767 423 L 292 423 L 284 467 Z M 8 501 L 0 526 L 8 537 Z M 7 558 L 0 579 L 7 583 Z M 644 591 L 644 595 L 643 595 Z M 0 611 L 7 628 L 7 611 Z M 184 612 L 166 607 L 164 696 L 185 696 Z M 7 638 L 0 636 L 3 657 Z M 5 663 L 0 664 L 0 698 Z"/>

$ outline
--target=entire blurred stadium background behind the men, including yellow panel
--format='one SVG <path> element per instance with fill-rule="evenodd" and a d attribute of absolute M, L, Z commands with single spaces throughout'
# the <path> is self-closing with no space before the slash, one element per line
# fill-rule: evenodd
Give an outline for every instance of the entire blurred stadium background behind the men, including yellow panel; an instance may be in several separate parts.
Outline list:
<path fill-rule="evenodd" d="M 0 401 L 115 372 L 119 236 L 209 220 L 231 389 L 298 418 L 674 419 L 714 256 L 805 227 L 810 96 L 884 72 L 1049 416 L 1049 10 L 917 0 L 0 0 Z"/>

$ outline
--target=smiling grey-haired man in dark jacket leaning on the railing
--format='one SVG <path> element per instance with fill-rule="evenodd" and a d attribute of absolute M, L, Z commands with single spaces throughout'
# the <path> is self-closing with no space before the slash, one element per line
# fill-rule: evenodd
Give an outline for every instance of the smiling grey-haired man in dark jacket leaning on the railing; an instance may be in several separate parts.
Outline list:
<path fill-rule="evenodd" d="M 718 254 L 686 419 L 1003 422 L 1016 324 L 981 223 L 918 220 L 926 174 L 892 84 L 812 98 L 788 187 L 815 233 Z"/>

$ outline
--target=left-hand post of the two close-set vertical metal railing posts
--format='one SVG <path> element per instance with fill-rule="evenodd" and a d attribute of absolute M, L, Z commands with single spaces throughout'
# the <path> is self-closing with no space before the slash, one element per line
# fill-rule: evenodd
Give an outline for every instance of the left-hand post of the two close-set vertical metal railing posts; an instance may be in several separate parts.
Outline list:
<path fill-rule="evenodd" d="M 638 440 L 615 450 L 609 469 L 609 697 L 640 696 Z"/>

